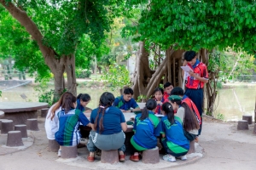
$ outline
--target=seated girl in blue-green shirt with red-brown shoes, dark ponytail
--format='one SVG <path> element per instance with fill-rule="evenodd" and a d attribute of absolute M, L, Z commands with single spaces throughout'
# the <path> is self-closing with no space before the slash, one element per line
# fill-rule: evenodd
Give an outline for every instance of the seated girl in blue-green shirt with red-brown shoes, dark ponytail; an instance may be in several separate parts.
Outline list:
<path fill-rule="evenodd" d="M 138 152 L 154 149 L 157 145 L 157 136 L 160 136 L 160 120 L 154 116 L 156 101 L 148 99 L 142 113 L 135 117 L 133 124 L 134 135 L 131 137 L 134 155 L 130 156 L 131 161 L 139 161 Z"/>

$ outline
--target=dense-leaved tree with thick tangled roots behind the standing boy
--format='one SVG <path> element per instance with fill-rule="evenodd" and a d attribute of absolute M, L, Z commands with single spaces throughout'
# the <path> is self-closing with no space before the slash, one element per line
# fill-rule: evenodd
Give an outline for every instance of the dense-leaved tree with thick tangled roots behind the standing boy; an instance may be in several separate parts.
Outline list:
<path fill-rule="evenodd" d="M 215 48 L 224 50 L 230 47 L 255 54 L 254 1 L 133 0 L 126 5 L 142 9 L 137 25 L 126 26 L 124 31 L 124 36 L 132 35 L 136 41 L 141 41 L 133 81 L 135 97 L 139 94 L 150 96 L 160 82 L 169 81 L 174 86 L 181 86 L 183 80 L 179 66 L 183 63 L 184 50 L 197 51 L 198 59 L 207 65 L 211 57 L 209 53 Z M 155 71 L 151 71 L 148 56 L 156 45 L 165 56 Z M 218 77 L 217 74 L 209 70 L 210 82 Z M 216 96 L 215 89 L 209 84 L 212 93 L 207 94 L 208 99 Z M 212 112 L 211 109 L 208 111 Z"/>

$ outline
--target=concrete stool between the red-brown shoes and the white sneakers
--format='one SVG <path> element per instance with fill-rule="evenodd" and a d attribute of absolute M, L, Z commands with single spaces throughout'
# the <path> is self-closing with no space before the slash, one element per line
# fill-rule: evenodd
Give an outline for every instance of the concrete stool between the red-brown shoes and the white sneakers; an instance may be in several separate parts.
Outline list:
<path fill-rule="evenodd" d="M 151 150 L 144 150 L 143 151 L 143 163 L 159 163 L 159 148 L 156 146 L 154 149 Z"/>

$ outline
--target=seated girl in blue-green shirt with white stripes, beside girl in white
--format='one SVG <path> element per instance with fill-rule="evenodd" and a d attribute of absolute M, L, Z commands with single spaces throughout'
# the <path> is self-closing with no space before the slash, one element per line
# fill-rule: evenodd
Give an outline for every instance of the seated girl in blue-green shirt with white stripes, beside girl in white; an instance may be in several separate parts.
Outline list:
<path fill-rule="evenodd" d="M 68 95 L 63 99 L 61 111 L 57 113 L 59 129 L 55 133 L 55 140 L 61 146 L 75 146 L 79 144 L 79 122 L 84 126 L 90 126 L 90 121 L 84 113 L 76 108 L 76 97 Z"/>

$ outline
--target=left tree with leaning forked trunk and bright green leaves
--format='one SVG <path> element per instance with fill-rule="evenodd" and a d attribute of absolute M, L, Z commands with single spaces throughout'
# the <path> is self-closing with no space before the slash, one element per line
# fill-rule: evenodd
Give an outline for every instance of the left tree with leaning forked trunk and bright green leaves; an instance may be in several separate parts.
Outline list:
<path fill-rule="evenodd" d="M 64 90 L 63 72 L 67 72 L 67 90 L 76 94 L 75 51 L 79 38 L 90 35 L 96 47 L 122 1 L 12 1 L 0 0 L 15 20 L 24 26 L 43 54 L 55 78 L 55 97 Z"/>

